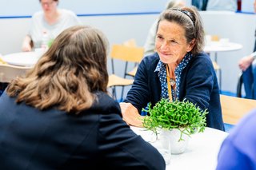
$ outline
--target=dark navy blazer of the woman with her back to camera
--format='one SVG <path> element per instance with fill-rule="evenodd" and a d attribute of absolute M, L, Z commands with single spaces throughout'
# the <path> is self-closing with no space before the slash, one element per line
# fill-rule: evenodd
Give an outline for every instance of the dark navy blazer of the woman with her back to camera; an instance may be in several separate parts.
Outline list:
<path fill-rule="evenodd" d="M 160 153 L 124 121 L 116 101 L 79 115 L 40 111 L 6 93 L 0 97 L 1 169 L 165 169 Z"/>

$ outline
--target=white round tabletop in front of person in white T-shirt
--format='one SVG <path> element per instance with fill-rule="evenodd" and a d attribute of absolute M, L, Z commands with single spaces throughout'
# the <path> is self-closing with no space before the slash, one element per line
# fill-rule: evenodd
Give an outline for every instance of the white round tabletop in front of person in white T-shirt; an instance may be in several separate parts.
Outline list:
<path fill-rule="evenodd" d="M 9 65 L 33 66 L 41 56 L 42 53 L 36 52 L 10 53 L 2 56 L 2 60 Z"/>

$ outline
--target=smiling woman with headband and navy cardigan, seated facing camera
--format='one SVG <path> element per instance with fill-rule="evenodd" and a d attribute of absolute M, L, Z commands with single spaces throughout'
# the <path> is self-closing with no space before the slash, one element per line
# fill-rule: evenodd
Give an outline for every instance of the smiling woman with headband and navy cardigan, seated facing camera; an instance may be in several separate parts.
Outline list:
<path fill-rule="evenodd" d="M 198 10 L 191 6 L 162 12 L 155 44 L 157 52 L 142 59 L 134 84 L 120 103 L 124 121 L 142 126 L 142 108 L 168 98 L 207 109 L 206 125 L 224 130 L 214 66 L 202 51 L 204 30 Z"/>

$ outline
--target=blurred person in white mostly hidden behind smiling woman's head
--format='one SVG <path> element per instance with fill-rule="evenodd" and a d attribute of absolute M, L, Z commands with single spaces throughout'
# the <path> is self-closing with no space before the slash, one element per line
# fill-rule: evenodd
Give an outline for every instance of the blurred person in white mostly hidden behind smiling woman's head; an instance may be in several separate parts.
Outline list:
<path fill-rule="evenodd" d="M 186 2 L 183 0 L 170 0 L 166 4 L 166 9 L 169 9 L 171 7 L 182 7 L 185 6 Z M 150 55 L 151 53 L 154 53 L 155 49 L 155 34 L 157 32 L 157 25 L 158 25 L 158 19 L 153 23 L 153 25 L 150 27 L 150 31 L 147 35 L 146 42 L 144 44 L 144 56 Z"/>

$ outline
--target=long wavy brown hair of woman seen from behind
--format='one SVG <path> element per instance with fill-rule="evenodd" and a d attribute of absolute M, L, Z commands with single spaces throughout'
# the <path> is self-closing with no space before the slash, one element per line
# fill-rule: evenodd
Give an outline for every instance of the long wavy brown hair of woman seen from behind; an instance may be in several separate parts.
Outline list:
<path fill-rule="evenodd" d="M 108 41 L 100 30 L 72 26 L 54 40 L 25 77 L 17 77 L 7 94 L 38 109 L 56 107 L 67 113 L 88 109 L 95 92 L 107 93 Z"/>

